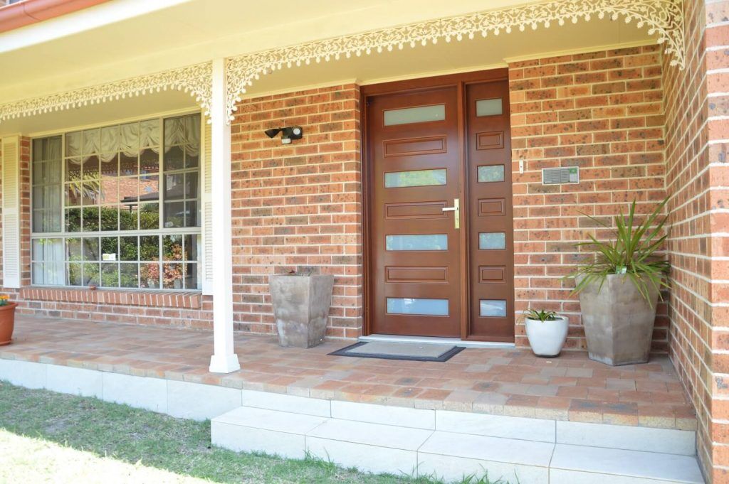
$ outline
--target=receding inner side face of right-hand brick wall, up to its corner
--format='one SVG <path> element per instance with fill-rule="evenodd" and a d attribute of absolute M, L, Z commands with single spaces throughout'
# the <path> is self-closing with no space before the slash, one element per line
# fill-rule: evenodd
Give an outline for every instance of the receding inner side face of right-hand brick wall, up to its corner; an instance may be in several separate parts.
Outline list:
<path fill-rule="evenodd" d="M 667 65 L 666 85 L 666 188 L 671 258 L 671 359 L 693 400 L 698 418 L 698 455 L 711 468 L 709 375 L 711 317 L 708 300 L 710 264 L 706 236 L 704 169 L 706 151 L 706 68 L 703 52 L 703 1 L 687 5 L 687 66 L 685 71 Z M 703 174 L 702 174 L 703 173 Z M 710 472 L 709 472 L 710 474 Z"/>

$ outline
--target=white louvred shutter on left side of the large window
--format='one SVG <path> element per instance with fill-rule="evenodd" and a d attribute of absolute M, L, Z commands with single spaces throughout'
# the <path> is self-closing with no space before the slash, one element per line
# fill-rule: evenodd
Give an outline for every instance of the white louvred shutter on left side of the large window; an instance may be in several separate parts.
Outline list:
<path fill-rule="evenodd" d="M 20 136 L 2 138 L 2 278 L 20 287 Z"/>

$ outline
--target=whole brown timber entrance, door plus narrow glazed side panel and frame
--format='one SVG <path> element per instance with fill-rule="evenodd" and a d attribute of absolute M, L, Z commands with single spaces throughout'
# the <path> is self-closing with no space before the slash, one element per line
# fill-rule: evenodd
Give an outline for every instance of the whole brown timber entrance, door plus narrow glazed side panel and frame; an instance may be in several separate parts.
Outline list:
<path fill-rule="evenodd" d="M 363 87 L 367 333 L 513 341 L 504 70 Z"/>

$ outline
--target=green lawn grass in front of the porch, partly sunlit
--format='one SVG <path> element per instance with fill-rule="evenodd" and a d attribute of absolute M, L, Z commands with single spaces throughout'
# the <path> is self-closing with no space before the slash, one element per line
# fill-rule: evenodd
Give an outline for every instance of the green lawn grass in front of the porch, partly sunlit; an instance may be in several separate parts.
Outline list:
<path fill-rule="evenodd" d="M 0 382 L 0 483 L 371 483 L 437 478 L 372 475 L 317 459 L 211 447 L 210 422 Z M 464 477 L 468 484 L 506 484 Z"/>

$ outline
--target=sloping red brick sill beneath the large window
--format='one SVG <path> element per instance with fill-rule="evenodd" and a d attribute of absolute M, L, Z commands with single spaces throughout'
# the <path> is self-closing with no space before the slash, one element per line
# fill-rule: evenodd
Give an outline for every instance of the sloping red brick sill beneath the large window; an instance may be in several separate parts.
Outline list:
<path fill-rule="evenodd" d="M 82 304 L 114 304 L 199 309 L 203 296 L 197 291 L 113 290 L 67 287 L 23 287 L 20 298 L 29 301 L 63 301 Z"/>

